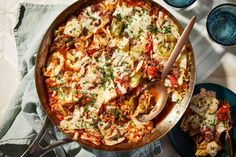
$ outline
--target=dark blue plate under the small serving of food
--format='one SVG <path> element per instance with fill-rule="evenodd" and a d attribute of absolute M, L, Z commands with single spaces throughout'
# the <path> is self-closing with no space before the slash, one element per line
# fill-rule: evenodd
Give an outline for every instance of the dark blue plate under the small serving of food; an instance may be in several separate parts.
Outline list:
<path fill-rule="evenodd" d="M 234 150 L 234 155 L 236 155 L 236 94 L 225 88 L 223 86 L 211 83 L 202 83 L 195 86 L 193 94 L 198 94 L 201 88 L 207 90 L 215 91 L 216 97 L 221 100 L 228 100 L 231 106 L 231 117 L 233 121 L 233 128 L 230 131 L 230 136 L 232 139 L 232 146 Z M 181 157 L 194 157 L 194 143 L 191 138 L 181 130 L 180 122 L 169 132 L 169 140 L 175 150 L 181 155 Z M 227 157 L 227 147 L 224 140 L 224 137 L 220 138 L 220 141 L 223 145 L 223 149 L 217 153 L 217 157 Z"/>

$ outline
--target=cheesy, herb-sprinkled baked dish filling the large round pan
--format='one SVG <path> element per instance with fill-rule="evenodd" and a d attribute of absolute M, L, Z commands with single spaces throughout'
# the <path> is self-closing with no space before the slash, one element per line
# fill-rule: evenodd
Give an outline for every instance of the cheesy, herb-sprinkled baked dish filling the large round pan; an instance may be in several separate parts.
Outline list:
<path fill-rule="evenodd" d="M 155 131 L 140 122 L 156 97 L 144 90 L 160 78 L 180 37 L 177 24 L 144 1 L 94 1 L 54 31 L 43 74 L 60 129 L 96 145 L 139 142 Z M 165 79 L 167 105 L 178 104 L 190 82 L 190 46 Z"/>

